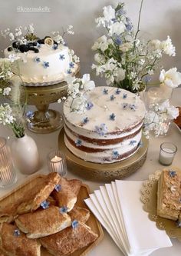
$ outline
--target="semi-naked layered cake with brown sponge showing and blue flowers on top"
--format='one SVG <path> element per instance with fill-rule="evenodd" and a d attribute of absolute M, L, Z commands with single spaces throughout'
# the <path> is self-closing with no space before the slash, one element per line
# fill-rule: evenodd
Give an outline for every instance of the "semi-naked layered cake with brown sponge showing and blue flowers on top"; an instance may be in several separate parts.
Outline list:
<path fill-rule="evenodd" d="M 94 163 L 113 163 L 133 155 L 140 146 L 143 101 L 130 91 L 96 87 L 87 92 L 83 114 L 64 102 L 64 142 L 78 158 Z"/>

